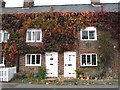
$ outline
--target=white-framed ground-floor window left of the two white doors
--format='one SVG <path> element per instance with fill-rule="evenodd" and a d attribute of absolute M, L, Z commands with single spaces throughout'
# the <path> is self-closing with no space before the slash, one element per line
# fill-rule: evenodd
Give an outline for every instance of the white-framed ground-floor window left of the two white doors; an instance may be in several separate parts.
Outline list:
<path fill-rule="evenodd" d="M 41 54 L 26 54 L 26 66 L 41 66 Z"/>

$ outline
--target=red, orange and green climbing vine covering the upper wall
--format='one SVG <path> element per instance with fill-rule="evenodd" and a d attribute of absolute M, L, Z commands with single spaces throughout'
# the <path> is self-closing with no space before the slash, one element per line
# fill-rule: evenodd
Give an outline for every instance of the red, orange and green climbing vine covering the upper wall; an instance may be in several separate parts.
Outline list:
<path fill-rule="evenodd" d="M 3 43 L 3 56 L 5 60 L 13 61 L 16 55 L 26 53 L 75 50 L 79 45 L 77 32 L 88 26 L 110 31 L 120 46 L 118 16 L 117 12 L 3 14 L 2 29 L 10 33 L 8 42 Z M 42 29 L 43 42 L 35 46 L 27 44 L 25 38 L 28 28 Z"/>

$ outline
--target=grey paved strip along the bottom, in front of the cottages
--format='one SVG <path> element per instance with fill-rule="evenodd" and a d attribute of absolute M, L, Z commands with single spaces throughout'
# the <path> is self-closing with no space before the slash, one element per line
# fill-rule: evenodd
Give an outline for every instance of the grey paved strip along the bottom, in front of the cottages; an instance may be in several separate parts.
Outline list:
<path fill-rule="evenodd" d="M 42 85 L 2 83 L 2 88 L 118 88 L 118 85 Z"/>

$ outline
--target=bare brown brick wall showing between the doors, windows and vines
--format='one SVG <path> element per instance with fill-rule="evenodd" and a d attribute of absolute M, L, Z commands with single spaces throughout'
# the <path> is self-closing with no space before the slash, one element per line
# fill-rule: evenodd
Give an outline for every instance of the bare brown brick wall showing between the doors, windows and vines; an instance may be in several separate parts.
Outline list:
<path fill-rule="evenodd" d="M 98 32 L 98 36 L 99 36 L 100 32 Z M 80 37 L 80 33 L 78 33 L 78 37 Z M 79 38 L 79 48 L 74 50 L 76 52 L 76 67 L 80 67 L 80 54 L 82 53 L 97 53 L 96 50 L 96 42 L 97 41 L 81 41 Z M 37 44 L 32 44 L 32 45 L 37 45 Z M 117 46 L 117 43 L 116 43 Z M 114 58 L 114 60 L 112 61 L 111 65 L 108 65 L 106 67 L 110 67 L 112 68 L 112 76 L 117 77 L 117 73 L 118 73 L 118 52 L 116 51 L 116 56 Z M 64 53 L 58 53 L 58 75 L 61 76 L 64 74 Z M 42 67 L 45 67 L 45 55 L 42 54 Z M 96 70 L 98 67 L 80 67 L 83 70 L 88 70 L 88 71 L 93 71 Z M 25 57 L 21 56 L 20 59 L 20 72 L 24 72 L 24 73 L 36 73 L 38 71 L 38 67 L 37 66 L 25 66 Z M 30 74 L 28 74 L 30 75 Z"/>

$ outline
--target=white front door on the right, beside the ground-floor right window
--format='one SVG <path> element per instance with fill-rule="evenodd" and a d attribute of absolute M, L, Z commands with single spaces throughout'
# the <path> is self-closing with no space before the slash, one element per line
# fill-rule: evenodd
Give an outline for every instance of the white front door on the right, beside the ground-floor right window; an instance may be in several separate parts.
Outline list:
<path fill-rule="evenodd" d="M 76 78 L 76 52 L 64 52 L 64 77 Z"/>

